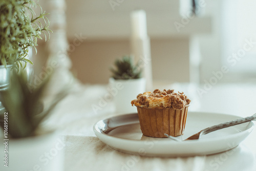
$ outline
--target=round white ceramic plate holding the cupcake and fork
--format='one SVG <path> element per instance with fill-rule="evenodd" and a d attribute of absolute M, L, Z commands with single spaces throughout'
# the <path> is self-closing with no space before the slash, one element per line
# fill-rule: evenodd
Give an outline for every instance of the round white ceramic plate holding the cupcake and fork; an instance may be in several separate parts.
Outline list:
<path fill-rule="evenodd" d="M 215 114 L 188 112 L 184 135 L 187 137 L 206 127 L 241 117 Z M 252 122 L 231 126 L 203 135 L 199 140 L 177 142 L 169 138 L 152 138 L 143 136 L 140 131 L 138 114 L 120 115 L 94 124 L 95 135 L 114 149 L 125 153 L 145 156 L 195 156 L 209 155 L 227 151 L 236 147 L 252 131 Z"/>

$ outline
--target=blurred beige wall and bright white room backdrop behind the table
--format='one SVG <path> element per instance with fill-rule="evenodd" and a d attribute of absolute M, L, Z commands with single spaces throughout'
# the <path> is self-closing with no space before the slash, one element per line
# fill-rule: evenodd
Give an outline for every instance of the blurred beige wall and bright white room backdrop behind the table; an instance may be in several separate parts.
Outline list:
<path fill-rule="evenodd" d="M 51 12 L 47 2 L 39 4 Z M 72 71 L 83 83 L 108 83 L 114 60 L 131 54 L 130 14 L 143 9 L 154 83 L 205 83 L 218 78 L 216 73 L 218 82 L 254 82 L 255 5 L 253 0 L 66 1 L 62 14 Z M 84 39 L 74 46 L 77 36 Z M 44 61 L 47 42 L 38 44 L 36 58 Z"/>

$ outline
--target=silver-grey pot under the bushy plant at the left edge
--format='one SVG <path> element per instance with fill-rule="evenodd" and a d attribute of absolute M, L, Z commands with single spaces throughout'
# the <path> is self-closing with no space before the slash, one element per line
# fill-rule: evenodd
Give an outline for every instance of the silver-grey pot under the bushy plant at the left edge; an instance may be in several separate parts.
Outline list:
<path fill-rule="evenodd" d="M 2 113 L 5 108 L 1 102 L 1 91 L 5 91 L 9 87 L 9 80 L 11 74 L 12 65 L 0 65 L 0 113 Z"/>

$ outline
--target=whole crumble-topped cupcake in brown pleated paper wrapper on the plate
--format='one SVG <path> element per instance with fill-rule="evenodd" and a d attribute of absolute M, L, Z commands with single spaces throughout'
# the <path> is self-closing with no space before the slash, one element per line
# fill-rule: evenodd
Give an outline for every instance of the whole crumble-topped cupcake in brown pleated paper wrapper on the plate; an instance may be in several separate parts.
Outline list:
<path fill-rule="evenodd" d="M 174 137 L 183 134 L 190 103 L 183 92 L 156 89 L 139 94 L 131 103 L 137 106 L 143 135 L 164 138 L 164 133 Z"/>

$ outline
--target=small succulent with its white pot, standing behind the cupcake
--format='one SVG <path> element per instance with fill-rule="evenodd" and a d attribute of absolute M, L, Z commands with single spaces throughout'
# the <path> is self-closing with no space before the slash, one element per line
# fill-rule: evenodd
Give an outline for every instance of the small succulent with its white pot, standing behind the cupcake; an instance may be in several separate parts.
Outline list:
<path fill-rule="evenodd" d="M 139 63 L 134 64 L 132 56 L 116 59 L 114 66 L 115 68 L 110 69 L 112 77 L 109 82 L 116 113 L 136 112 L 136 109 L 132 108 L 131 101 L 145 91 L 145 79 L 141 77 L 142 68 Z"/>

